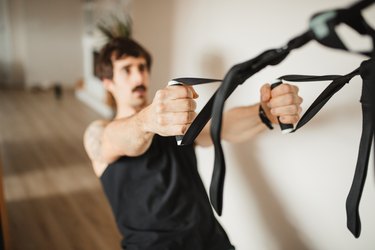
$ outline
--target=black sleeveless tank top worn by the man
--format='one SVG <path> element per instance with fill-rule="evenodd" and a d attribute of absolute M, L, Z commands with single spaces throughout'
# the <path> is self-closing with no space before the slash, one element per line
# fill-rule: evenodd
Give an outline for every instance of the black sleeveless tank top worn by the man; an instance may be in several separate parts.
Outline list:
<path fill-rule="evenodd" d="M 123 249 L 234 249 L 213 214 L 192 145 L 155 135 L 146 153 L 118 159 L 101 181 Z"/>

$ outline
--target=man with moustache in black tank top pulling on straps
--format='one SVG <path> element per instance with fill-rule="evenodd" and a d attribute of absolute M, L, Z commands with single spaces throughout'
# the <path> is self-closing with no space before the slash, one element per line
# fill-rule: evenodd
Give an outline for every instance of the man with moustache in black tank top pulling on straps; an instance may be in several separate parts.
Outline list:
<path fill-rule="evenodd" d="M 194 146 L 179 147 L 175 135 L 194 120 L 192 87 L 168 86 L 147 101 L 151 56 L 134 40 L 116 38 L 100 54 L 104 87 L 116 103 L 112 121 L 95 121 L 84 144 L 123 234 L 124 249 L 234 249 L 214 217 L 197 171 Z M 302 99 L 295 86 L 271 91 L 261 88 L 261 104 L 238 107 L 224 114 L 222 138 L 242 142 L 266 126 L 258 115 L 262 105 L 277 123 L 296 123 Z M 212 144 L 208 124 L 195 143 Z"/>

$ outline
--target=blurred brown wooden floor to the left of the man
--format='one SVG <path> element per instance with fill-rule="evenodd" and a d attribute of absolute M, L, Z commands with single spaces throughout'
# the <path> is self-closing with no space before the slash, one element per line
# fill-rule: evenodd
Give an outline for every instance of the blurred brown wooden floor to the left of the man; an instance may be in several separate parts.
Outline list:
<path fill-rule="evenodd" d="M 85 127 L 98 118 L 73 92 L 56 99 L 52 91 L 0 90 L 11 249 L 119 249 L 110 207 L 82 144 Z"/>

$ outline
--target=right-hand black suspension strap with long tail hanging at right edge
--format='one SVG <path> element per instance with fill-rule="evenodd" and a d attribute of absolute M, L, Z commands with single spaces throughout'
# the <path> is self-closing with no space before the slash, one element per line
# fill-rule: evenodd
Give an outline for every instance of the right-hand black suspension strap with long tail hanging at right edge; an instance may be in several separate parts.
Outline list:
<path fill-rule="evenodd" d="M 346 200 L 347 227 L 350 232 L 358 238 L 361 233 L 361 220 L 359 216 L 359 203 L 362 197 L 363 188 L 366 181 L 368 162 L 371 152 L 371 145 L 374 136 L 375 122 L 375 60 L 374 58 L 364 61 L 360 67 L 353 72 L 340 75 L 311 76 L 311 75 L 285 75 L 279 77 L 280 81 L 287 82 L 311 82 L 311 81 L 327 81 L 333 80 L 331 84 L 318 96 L 311 104 L 305 114 L 301 117 L 292 131 L 295 132 L 307 122 L 309 122 L 323 106 L 336 94 L 346 83 L 353 77 L 361 75 L 363 79 L 362 85 L 362 135 L 359 145 L 356 170 L 353 177 L 352 186 L 350 188 Z"/>

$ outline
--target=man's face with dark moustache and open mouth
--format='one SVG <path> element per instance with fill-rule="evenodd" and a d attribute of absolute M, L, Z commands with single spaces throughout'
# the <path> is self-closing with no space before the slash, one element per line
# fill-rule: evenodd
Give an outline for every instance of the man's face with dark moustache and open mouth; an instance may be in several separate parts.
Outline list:
<path fill-rule="evenodd" d="M 149 70 L 143 57 L 127 56 L 113 62 L 113 95 L 118 105 L 143 108 L 147 104 Z"/>

